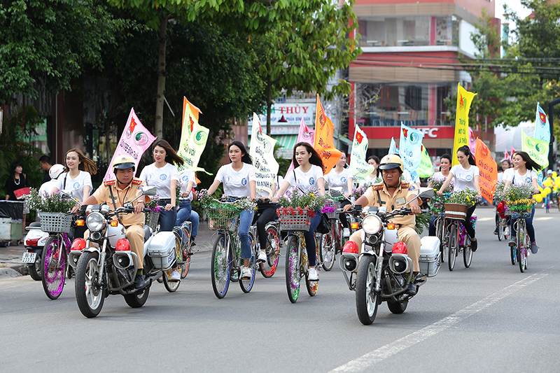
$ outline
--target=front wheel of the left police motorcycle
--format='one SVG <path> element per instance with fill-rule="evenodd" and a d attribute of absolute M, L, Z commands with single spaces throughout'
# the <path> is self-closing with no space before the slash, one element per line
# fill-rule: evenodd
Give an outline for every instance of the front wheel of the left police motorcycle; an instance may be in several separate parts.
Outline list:
<path fill-rule="evenodd" d="M 99 273 L 97 253 L 89 251 L 80 255 L 76 267 L 76 302 L 83 316 L 93 318 L 99 315 L 103 308 L 105 297 L 102 286 L 97 285 Z"/>

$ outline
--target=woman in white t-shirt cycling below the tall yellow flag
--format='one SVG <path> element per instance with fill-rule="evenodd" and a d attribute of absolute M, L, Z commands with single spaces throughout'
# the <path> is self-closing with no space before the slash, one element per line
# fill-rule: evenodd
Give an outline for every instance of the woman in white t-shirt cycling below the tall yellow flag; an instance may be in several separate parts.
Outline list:
<path fill-rule="evenodd" d="M 445 188 L 447 188 L 449 183 L 451 183 L 451 178 L 455 178 L 455 184 L 453 186 L 454 191 L 460 192 L 461 190 L 468 188 L 476 190 L 477 197 L 482 197 L 480 193 L 480 185 L 478 183 L 480 169 L 476 167 L 475 157 L 472 153 L 470 153 L 470 148 L 468 146 L 464 145 L 461 146 L 461 148 L 458 148 L 457 160 L 459 161 L 459 164 L 451 167 L 447 179 L 444 181 L 442 188 L 437 191 L 437 194 L 442 195 Z M 470 217 L 472 216 L 472 213 L 475 212 L 476 208 L 477 204 L 475 203 L 467 210 L 467 216 L 465 216 L 465 221 L 463 222 L 463 226 L 470 237 L 470 248 L 472 248 L 473 253 L 477 251 L 478 242 L 475 237 L 475 229 L 472 227 L 472 223 L 470 223 Z"/>

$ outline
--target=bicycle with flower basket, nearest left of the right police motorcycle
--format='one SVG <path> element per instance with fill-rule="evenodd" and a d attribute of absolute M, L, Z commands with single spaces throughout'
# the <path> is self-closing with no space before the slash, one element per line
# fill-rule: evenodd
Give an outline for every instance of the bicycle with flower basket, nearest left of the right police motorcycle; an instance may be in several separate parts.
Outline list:
<path fill-rule="evenodd" d="M 314 297 L 318 290 L 318 281 L 309 280 L 309 261 L 307 260 L 307 249 L 303 232 L 309 232 L 308 210 L 302 209 L 302 215 L 279 216 L 280 231 L 288 232 L 288 244 L 286 245 L 286 290 L 290 302 L 297 302 L 300 296 L 300 285 L 302 277 L 305 276 L 305 285 L 309 296 Z M 315 255 L 318 272 L 321 267 L 318 244 L 315 237 Z"/>

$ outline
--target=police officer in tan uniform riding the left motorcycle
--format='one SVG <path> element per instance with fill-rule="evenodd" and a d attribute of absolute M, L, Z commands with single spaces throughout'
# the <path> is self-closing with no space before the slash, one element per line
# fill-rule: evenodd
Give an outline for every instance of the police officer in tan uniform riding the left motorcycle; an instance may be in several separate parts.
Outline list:
<path fill-rule="evenodd" d="M 141 195 L 141 186 L 145 181 L 134 177 L 136 166 L 128 155 L 119 155 L 113 162 L 114 180 L 104 181 L 102 185 L 83 204 L 106 203 L 111 210 L 125 206 Z M 130 241 L 131 250 L 138 256 L 138 273 L 134 278 L 135 288 L 144 288 L 144 205 L 145 197 L 132 202 L 134 213 L 120 214 L 120 220 L 126 228 L 126 235 Z M 114 202 L 114 204 L 113 204 Z M 116 217 L 113 218 L 117 220 Z"/>

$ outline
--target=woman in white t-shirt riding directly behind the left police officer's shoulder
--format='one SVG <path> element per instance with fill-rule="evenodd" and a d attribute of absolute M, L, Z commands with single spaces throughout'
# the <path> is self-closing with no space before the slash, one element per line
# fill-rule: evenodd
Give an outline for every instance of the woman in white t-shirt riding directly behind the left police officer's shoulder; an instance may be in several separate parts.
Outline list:
<path fill-rule="evenodd" d="M 177 192 L 179 182 L 179 170 L 176 165 L 183 164 L 183 158 L 179 157 L 175 150 L 165 140 L 158 140 L 152 146 L 152 157 L 155 162 L 148 164 L 142 169 L 139 176 L 146 181 L 146 185 L 155 186 L 158 192 L 160 211 L 160 232 L 172 232 L 177 220 Z M 180 281 L 181 274 L 177 263 L 172 265 L 172 274 L 169 281 Z"/>

